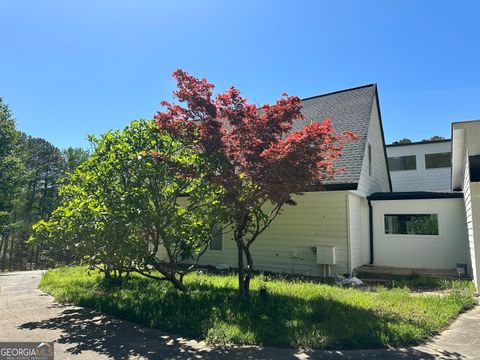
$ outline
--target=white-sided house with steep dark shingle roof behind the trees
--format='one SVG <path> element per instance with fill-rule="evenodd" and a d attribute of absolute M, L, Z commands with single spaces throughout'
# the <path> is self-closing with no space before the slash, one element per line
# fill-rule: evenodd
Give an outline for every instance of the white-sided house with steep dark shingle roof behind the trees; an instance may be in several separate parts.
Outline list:
<path fill-rule="evenodd" d="M 336 160 L 344 172 L 296 196 L 252 245 L 256 269 L 311 276 L 364 265 L 463 269 L 478 285 L 480 122 L 455 123 L 452 141 L 387 146 L 375 84 L 302 102 L 305 119 L 295 129 L 330 118 L 358 140 Z M 217 236 L 200 264 L 235 268 L 231 235 Z"/>

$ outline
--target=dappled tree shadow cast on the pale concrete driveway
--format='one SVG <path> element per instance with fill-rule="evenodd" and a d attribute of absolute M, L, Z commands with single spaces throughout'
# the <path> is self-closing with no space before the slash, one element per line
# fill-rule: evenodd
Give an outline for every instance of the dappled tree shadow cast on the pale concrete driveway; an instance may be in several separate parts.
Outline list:
<path fill-rule="evenodd" d="M 199 347 L 188 340 L 154 329 L 102 316 L 83 308 L 65 309 L 58 317 L 29 322 L 22 329 L 61 330 L 56 342 L 71 345 L 68 353 L 84 351 L 112 359 L 142 357 L 145 359 L 436 359 L 416 349 L 322 351 L 262 347 Z M 442 359 L 465 359 L 458 353 L 442 352 Z"/>

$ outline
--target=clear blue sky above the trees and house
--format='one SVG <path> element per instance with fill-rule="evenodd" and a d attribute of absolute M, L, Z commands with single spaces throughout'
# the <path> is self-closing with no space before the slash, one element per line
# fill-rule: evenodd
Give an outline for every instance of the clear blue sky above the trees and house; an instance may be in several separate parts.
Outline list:
<path fill-rule="evenodd" d="M 0 1 L 0 96 L 59 147 L 150 118 L 176 68 L 273 102 L 375 82 L 387 142 L 480 119 L 478 1 Z"/>

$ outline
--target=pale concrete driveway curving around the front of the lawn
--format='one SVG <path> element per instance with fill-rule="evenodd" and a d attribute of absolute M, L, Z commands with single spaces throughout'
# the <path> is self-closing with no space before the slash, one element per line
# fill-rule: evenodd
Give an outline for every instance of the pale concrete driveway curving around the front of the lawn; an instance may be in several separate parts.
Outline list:
<path fill-rule="evenodd" d="M 53 302 L 42 272 L 0 274 L 0 341 L 55 341 L 55 359 L 480 359 L 480 307 L 426 346 L 364 351 L 210 348 L 204 342 Z"/>

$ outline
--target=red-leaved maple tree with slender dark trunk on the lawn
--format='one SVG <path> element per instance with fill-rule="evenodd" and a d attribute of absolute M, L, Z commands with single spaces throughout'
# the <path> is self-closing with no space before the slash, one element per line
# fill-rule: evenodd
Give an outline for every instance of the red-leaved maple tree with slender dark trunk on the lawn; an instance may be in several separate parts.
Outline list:
<path fill-rule="evenodd" d="M 180 69 L 173 77 L 177 101 L 163 101 L 155 120 L 205 159 L 209 180 L 223 189 L 219 201 L 238 249 L 239 291 L 248 296 L 254 241 L 285 205 L 295 205 L 293 195 L 342 171 L 334 160 L 356 135 L 335 134 L 328 119 L 292 131 L 304 119 L 296 96 L 258 107 L 234 87 L 214 97 L 204 78 Z"/>

